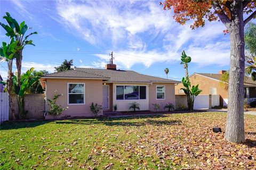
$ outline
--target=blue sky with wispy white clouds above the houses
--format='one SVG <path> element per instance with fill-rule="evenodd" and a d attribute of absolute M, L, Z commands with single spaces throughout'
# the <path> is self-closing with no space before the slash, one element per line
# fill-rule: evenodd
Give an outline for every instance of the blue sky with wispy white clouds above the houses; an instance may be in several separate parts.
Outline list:
<path fill-rule="evenodd" d="M 192 57 L 189 73 L 217 73 L 229 69 L 229 35 L 221 22 L 206 22 L 204 28 L 179 25 L 171 11 L 158 1 L 0 1 L 0 21 L 9 12 L 19 23 L 25 21 L 34 46 L 23 50 L 22 70 L 54 71 L 63 60 L 76 67 L 102 68 L 114 52 L 118 69 L 180 80 L 184 49 Z M 1 43 L 9 42 L 0 28 Z M 0 63 L 6 78 L 7 64 Z M 15 64 L 14 64 L 15 65 Z"/>

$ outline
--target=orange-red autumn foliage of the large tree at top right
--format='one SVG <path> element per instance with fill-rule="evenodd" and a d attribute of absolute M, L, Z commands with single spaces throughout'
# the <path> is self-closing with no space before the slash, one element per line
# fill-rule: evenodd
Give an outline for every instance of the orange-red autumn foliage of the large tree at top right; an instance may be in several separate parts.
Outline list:
<path fill-rule="evenodd" d="M 232 1 L 222 0 L 218 2 L 221 10 L 215 10 L 213 8 L 213 1 L 202 0 L 166 0 L 160 4 L 164 6 L 164 10 L 173 10 L 173 18 L 180 24 L 185 24 L 189 20 L 194 20 L 194 23 L 190 25 L 191 29 L 198 27 L 204 27 L 205 20 L 217 21 L 219 20 L 217 13 L 224 12 L 229 19 L 230 3 Z M 249 14 L 256 8 L 256 1 L 245 2 L 244 13 Z"/>

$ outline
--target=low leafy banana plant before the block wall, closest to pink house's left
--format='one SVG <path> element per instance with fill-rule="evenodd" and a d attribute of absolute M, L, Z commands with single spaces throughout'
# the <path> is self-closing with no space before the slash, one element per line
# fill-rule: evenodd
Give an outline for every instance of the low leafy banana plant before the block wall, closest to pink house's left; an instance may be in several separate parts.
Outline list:
<path fill-rule="evenodd" d="M 19 115 L 22 119 L 26 118 L 28 111 L 25 111 L 25 95 L 29 91 L 29 88 L 33 86 L 38 80 L 39 76 L 34 76 L 33 73 L 34 68 L 32 67 L 26 73 L 23 73 L 20 78 L 20 85 L 18 84 L 17 75 L 13 75 L 13 91 L 15 92 L 15 96 L 18 102 Z"/>

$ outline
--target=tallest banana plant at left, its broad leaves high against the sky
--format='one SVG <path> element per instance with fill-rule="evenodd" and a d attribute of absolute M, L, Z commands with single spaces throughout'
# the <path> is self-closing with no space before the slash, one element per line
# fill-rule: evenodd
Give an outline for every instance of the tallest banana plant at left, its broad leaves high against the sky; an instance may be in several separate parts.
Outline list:
<path fill-rule="evenodd" d="M 13 19 L 10 13 L 6 12 L 6 15 L 3 16 L 3 19 L 6 20 L 7 24 L 0 22 L 0 25 L 5 29 L 5 35 L 10 37 L 11 39 L 14 38 L 18 41 L 17 46 L 20 48 L 17 50 L 17 58 L 16 58 L 16 66 L 17 66 L 17 80 L 18 84 L 20 85 L 20 77 L 21 77 L 21 62 L 22 62 L 22 50 L 26 45 L 33 45 L 33 40 L 28 40 L 28 37 L 37 32 L 31 32 L 27 36 L 25 36 L 28 29 L 28 25 L 25 24 L 25 21 L 18 24 L 18 22 Z"/>

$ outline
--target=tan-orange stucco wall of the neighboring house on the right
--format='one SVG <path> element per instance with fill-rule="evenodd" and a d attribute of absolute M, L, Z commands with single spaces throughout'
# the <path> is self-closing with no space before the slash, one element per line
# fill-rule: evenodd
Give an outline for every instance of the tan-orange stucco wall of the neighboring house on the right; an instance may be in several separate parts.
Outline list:
<path fill-rule="evenodd" d="M 210 95 L 210 88 L 216 88 L 217 95 L 220 95 L 221 106 L 223 105 L 223 99 L 228 98 L 228 90 L 226 90 L 225 87 L 220 84 L 220 81 L 206 78 L 198 74 L 192 75 L 189 80 L 191 85 L 199 84 L 199 88 L 203 90 L 200 95 Z M 182 87 L 182 83 L 179 83 L 177 86 L 175 86 L 175 95 L 185 95 L 179 93 L 179 89 Z"/>

